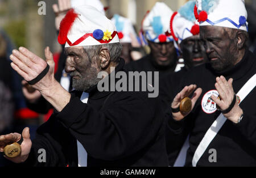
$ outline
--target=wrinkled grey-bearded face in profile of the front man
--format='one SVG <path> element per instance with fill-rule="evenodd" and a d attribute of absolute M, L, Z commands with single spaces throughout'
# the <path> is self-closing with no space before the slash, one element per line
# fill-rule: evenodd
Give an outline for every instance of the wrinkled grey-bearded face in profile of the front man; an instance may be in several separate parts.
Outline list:
<path fill-rule="evenodd" d="M 65 71 L 73 79 L 73 88 L 86 92 L 100 81 L 97 79 L 100 72 L 98 56 L 90 58 L 82 46 L 66 48 L 65 53 L 68 56 Z"/>

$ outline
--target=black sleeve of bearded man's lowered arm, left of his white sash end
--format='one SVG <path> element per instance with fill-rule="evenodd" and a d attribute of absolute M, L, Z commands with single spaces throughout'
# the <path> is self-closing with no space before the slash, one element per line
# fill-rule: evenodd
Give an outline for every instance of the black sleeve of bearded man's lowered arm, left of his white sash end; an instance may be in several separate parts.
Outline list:
<path fill-rule="evenodd" d="M 32 141 L 30 155 L 26 162 L 20 164 L 23 167 L 65 167 L 68 165 L 69 157 L 73 154 L 70 152 L 72 139 L 67 128 L 55 119 L 52 115 L 49 120 L 44 123 L 36 131 L 36 138 Z M 42 154 L 45 151 L 46 159 L 43 160 Z"/>

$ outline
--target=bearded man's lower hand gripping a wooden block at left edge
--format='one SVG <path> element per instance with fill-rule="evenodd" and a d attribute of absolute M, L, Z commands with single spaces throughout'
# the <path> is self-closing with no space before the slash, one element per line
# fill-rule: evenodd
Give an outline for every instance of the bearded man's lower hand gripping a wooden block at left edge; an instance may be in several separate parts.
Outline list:
<path fill-rule="evenodd" d="M 3 152 L 3 149 L 5 146 L 9 143 L 18 142 L 23 137 L 23 142 L 20 145 L 21 152 L 20 155 L 15 158 L 9 158 L 5 156 L 6 159 L 9 159 L 10 161 L 14 163 L 23 163 L 27 160 L 28 155 L 30 154 L 32 142 L 30 139 L 30 129 L 25 128 L 22 132 L 22 135 L 18 133 L 10 133 L 7 135 L 0 135 L 0 152 Z"/>

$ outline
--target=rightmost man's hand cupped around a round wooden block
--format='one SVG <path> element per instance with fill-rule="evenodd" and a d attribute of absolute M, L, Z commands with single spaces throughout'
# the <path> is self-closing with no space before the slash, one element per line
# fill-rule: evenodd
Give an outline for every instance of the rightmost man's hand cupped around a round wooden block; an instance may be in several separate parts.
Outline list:
<path fill-rule="evenodd" d="M 175 96 L 174 100 L 172 101 L 171 108 L 179 108 L 181 100 L 183 100 L 186 97 L 189 97 L 192 94 L 193 91 L 195 91 L 195 92 L 194 92 L 194 94 L 193 94 L 193 96 L 191 98 L 191 102 L 192 102 L 191 111 L 192 111 L 192 109 L 195 107 L 197 99 L 199 99 L 200 95 L 202 94 L 202 89 L 201 88 L 197 88 L 196 89 L 196 85 L 195 84 L 191 84 L 190 86 L 185 86 L 183 88 L 183 90 L 181 90 L 179 92 L 179 94 L 177 94 Z M 183 113 L 183 112 L 180 112 L 180 111 L 179 112 L 172 112 L 172 117 L 176 121 L 181 121 L 190 112 L 187 112 L 187 113 Z"/>

